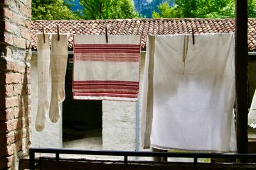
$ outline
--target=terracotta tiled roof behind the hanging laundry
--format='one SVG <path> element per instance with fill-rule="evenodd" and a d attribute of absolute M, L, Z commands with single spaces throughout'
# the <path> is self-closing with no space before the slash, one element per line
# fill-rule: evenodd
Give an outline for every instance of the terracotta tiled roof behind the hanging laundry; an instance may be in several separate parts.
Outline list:
<path fill-rule="evenodd" d="M 31 24 L 31 45 L 36 50 L 36 33 L 68 33 L 68 49 L 73 50 L 73 35 L 105 34 L 142 35 L 142 49 L 146 49 L 146 35 L 230 33 L 235 31 L 235 19 L 206 18 L 161 18 L 122 20 L 82 20 L 82 21 L 33 21 Z M 256 18 L 248 19 L 248 50 L 256 51 Z"/>

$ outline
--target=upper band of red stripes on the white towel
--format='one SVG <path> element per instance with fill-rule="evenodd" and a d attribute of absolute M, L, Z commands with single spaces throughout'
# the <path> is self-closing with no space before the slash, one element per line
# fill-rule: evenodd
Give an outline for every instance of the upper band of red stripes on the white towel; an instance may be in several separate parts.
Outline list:
<path fill-rule="evenodd" d="M 75 60 L 106 62 L 139 62 L 140 45 L 88 44 L 74 45 Z"/>

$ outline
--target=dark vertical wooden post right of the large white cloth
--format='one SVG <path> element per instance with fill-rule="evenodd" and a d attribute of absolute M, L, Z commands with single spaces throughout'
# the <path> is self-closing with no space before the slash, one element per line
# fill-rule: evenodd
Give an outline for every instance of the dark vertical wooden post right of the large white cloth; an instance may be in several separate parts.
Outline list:
<path fill-rule="evenodd" d="M 235 23 L 235 86 L 238 153 L 247 153 L 247 0 L 235 0 Z"/>

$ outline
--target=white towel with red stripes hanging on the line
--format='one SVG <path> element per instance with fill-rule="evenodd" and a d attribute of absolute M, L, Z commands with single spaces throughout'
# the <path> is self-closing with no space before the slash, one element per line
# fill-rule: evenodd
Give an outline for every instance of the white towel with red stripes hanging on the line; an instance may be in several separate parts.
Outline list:
<path fill-rule="evenodd" d="M 108 35 L 107 39 L 74 35 L 73 98 L 137 101 L 140 35 Z"/>

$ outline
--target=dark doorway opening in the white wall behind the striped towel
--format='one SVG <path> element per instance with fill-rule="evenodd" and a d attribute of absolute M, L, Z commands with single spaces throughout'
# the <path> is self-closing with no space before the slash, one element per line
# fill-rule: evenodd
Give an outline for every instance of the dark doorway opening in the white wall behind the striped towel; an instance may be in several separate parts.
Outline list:
<path fill-rule="evenodd" d="M 63 102 L 63 142 L 102 137 L 102 101 L 73 100 L 73 56 L 69 56 Z"/>

